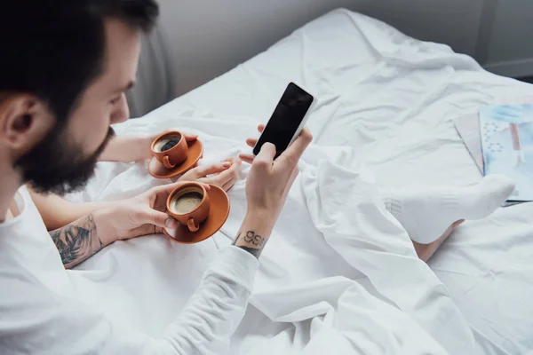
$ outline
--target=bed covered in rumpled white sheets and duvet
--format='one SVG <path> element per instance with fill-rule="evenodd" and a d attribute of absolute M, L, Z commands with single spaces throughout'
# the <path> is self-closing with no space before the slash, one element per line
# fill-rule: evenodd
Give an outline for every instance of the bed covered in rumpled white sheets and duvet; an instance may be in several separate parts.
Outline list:
<path fill-rule="evenodd" d="M 475 183 L 480 172 L 452 120 L 501 97 L 529 95 L 531 85 L 339 9 L 115 130 L 179 127 L 200 134 L 205 163 L 236 156 L 290 81 L 318 98 L 308 123 L 314 145 L 228 353 L 529 353 L 531 204 L 461 225 L 427 267 L 372 191 L 374 184 Z M 113 200 L 168 182 L 146 168 L 99 163 L 87 188 L 68 198 Z M 240 180 L 230 191 L 227 224 L 208 241 L 182 246 L 155 235 L 91 257 L 71 272 L 80 295 L 117 322 L 160 334 L 217 249 L 233 238 L 245 209 L 243 188 Z"/>

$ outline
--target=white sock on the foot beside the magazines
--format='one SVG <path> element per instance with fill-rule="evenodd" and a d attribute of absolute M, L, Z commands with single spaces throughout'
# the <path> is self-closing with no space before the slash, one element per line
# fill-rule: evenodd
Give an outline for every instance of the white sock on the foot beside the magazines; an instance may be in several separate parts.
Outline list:
<path fill-rule="evenodd" d="M 383 193 L 383 202 L 412 241 L 429 244 L 458 220 L 489 216 L 513 191 L 511 178 L 489 175 L 483 177 L 479 184 L 467 187 L 388 191 Z"/>

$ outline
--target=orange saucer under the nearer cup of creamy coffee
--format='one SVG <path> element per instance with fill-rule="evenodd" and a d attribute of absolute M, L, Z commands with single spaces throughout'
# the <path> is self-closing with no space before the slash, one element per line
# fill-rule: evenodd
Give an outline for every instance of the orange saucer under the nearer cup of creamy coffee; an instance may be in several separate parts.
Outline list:
<path fill-rule="evenodd" d="M 229 198 L 224 190 L 219 186 L 210 185 L 211 190 L 208 191 L 209 199 L 211 200 L 211 209 L 209 217 L 200 225 L 197 232 L 191 232 L 187 225 L 179 225 L 177 229 L 170 232 L 163 229 L 163 233 L 171 239 L 182 244 L 194 244 L 200 241 L 205 241 L 214 233 L 219 232 L 219 229 L 226 223 L 227 216 L 229 216 Z"/>

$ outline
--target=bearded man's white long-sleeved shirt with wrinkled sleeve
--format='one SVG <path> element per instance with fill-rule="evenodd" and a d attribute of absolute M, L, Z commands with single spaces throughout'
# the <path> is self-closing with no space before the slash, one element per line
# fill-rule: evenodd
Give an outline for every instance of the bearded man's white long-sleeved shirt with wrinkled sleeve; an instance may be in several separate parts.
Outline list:
<path fill-rule="evenodd" d="M 0 224 L 0 354 L 211 354 L 227 348 L 251 294 L 259 266 L 254 256 L 235 247 L 220 250 L 186 308 L 154 338 L 77 300 L 25 187 L 16 201 L 20 215 Z"/>

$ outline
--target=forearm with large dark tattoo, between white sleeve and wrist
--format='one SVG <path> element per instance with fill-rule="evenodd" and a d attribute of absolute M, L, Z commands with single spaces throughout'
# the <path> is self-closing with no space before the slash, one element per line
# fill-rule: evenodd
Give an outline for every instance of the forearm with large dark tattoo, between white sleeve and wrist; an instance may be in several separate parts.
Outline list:
<path fill-rule="evenodd" d="M 50 233 L 67 269 L 83 262 L 102 248 L 92 215 Z"/>

